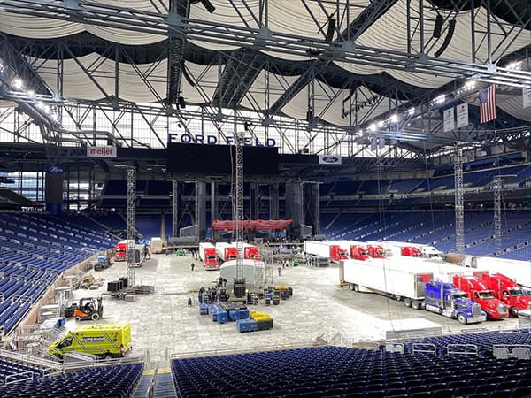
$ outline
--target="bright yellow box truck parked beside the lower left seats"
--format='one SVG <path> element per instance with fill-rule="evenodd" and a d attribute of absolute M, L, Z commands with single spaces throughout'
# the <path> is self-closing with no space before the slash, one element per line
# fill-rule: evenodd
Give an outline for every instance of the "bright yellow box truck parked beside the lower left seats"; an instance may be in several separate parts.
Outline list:
<path fill-rule="evenodd" d="M 131 350 L 131 325 L 82 325 L 50 345 L 48 354 L 63 358 L 68 352 L 92 354 L 101 358 L 125 356 Z"/>

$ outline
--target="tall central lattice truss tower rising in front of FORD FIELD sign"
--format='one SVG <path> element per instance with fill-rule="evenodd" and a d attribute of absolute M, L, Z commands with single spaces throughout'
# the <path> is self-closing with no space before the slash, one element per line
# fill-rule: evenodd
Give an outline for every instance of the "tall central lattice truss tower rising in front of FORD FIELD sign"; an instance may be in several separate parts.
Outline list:
<path fill-rule="evenodd" d="M 235 134 L 235 221 L 236 257 L 235 279 L 243 279 L 243 133 Z"/>

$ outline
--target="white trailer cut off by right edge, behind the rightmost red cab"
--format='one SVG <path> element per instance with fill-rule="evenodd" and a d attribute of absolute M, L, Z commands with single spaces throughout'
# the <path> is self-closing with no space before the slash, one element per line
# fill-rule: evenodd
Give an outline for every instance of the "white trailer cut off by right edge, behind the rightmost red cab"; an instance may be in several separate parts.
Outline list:
<path fill-rule="evenodd" d="M 489 273 L 500 272 L 516 280 L 520 286 L 531 287 L 531 262 L 508 260 L 497 257 L 468 256 L 462 264 L 487 270 Z"/>

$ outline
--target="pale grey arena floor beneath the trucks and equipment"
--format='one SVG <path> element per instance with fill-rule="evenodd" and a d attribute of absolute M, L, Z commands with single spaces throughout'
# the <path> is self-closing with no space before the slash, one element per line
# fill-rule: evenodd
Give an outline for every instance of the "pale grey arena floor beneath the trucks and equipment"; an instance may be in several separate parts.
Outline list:
<path fill-rule="evenodd" d="M 190 264 L 196 263 L 192 272 Z M 191 256 L 155 255 L 135 269 L 136 284 L 154 285 L 153 295 L 137 295 L 135 302 L 112 299 L 106 294 L 107 282 L 126 276 L 125 263 L 115 263 L 107 270 L 93 272 L 104 278 L 99 290 L 76 290 L 74 297 L 104 295 L 104 322 L 129 323 L 133 347 L 141 355 L 149 351 L 150 362 L 165 361 L 166 353 L 185 353 L 224 348 L 252 348 L 296 344 L 313 341 L 324 333 L 330 338 L 341 333 L 342 342 L 381 340 L 389 329 L 389 320 L 399 325 L 404 319 L 427 319 L 443 327 L 443 333 L 463 329 L 498 330 L 518 324 L 517 319 L 461 325 L 424 310 L 412 310 L 402 303 L 381 295 L 355 293 L 339 287 L 337 266 L 330 268 L 286 268 L 275 285 L 293 287 L 293 297 L 277 306 L 250 305 L 250 310 L 263 311 L 273 317 L 272 330 L 238 333 L 234 322 L 219 325 L 197 309 L 197 290 L 212 285 L 219 272 L 205 271 L 203 264 Z M 194 305 L 189 308 L 188 298 Z M 73 329 L 70 319 L 66 327 Z M 394 326 L 398 327 L 398 326 Z"/>

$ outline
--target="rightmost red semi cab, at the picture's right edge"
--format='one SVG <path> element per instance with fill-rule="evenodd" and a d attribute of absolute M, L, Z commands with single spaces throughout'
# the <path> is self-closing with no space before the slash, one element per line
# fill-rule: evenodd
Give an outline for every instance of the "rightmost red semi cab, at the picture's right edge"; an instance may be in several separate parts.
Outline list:
<path fill-rule="evenodd" d="M 501 273 L 484 273 L 481 275 L 481 280 L 485 286 L 494 292 L 498 300 L 509 307 L 509 313 L 512 317 L 518 317 L 520 310 L 531 308 L 531 297 L 524 295 L 523 290 L 513 279 Z"/>

